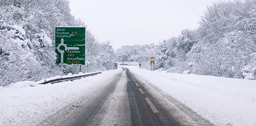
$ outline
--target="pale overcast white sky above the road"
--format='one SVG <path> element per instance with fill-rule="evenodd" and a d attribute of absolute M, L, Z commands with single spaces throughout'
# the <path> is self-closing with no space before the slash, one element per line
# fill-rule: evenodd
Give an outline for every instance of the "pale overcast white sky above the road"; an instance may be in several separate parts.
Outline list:
<path fill-rule="evenodd" d="M 219 0 L 69 0 L 98 41 L 122 45 L 158 44 L 198 27 L 199 15 Z"/>

